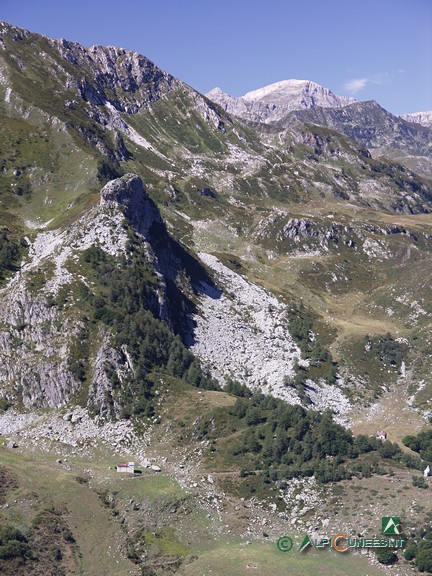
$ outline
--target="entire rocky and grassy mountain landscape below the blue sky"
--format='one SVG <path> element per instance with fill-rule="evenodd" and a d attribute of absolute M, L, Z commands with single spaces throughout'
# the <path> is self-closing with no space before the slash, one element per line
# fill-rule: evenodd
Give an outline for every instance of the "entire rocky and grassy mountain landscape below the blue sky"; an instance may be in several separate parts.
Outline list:
<path fill-rule="evenodd" d="M 2 573 L 428 569 L 429 115 L 0 23 Z"/>

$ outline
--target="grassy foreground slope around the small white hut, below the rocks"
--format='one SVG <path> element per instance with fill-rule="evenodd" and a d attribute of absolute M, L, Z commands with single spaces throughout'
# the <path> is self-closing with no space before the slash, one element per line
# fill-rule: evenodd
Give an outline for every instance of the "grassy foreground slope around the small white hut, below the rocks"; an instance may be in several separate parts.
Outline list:
<path fill-rule="evenodd" d="M 183 422 L 191 425 L 198 416 L 205 418 L 213 408 L 232 404 L 233 397 L 189 387 L 184 387 L 179 395 L 179 390 L 170 389 L 162 402 L 162 423 L 155 427 L 146 448 L 146 453 L 162 465 L 160 475 L 147 470 L 135 477 L 119 475 L 112 469 L 115 462 L 136 460 L 136 455 L 125 449 L 119 456 L 106 445 L 88 448 L 84 453 L 56 442 L 49 452 L 47 448 L 37 448 L 37 441 L 21 442 L 21 447 L 13 451 L 3 447 L 0 465 L 14 473 L 18 488 L 8 493 L 9 507 L 1 509 L 2 521 L 25 529 L 36 512 L 47 505 L 64 510 L 79 549 L 69 564 L 70 573 L 83 576 L 139 574 L 125 557 L 130 549 L 125 530 L 129 542 L 147 554 L 145 565 L 153 566 L 160 575 L 169 574 L 168 566 L 179 558 L 183 562 L 176 573 L 184 576 L 240 576 L 251 570 L 262 575 L 271 571 L 282 576 L 287 570 L 312 575 L 318 569 L 335 576 L 383 574 L 380 567 L 371 566 L 367 557 L 358 554 L 328 550 L 300 554 L 297 549 L 280 552 L 276 547 L 280 536 L 290 535 L 298 547 L 304 533 L 313 529 L 295 530 L 277 514 L 269 515 L 256 504 L 241 501 L 226 490 L 227 476 L 215 461 L 196 458 L 196 450 L 203 448 L 201 442 L 182 440 Z M 55 461 L 58 450 L 64 454 L 61 465 Z M 188 486 L 196 482 L 197 487 L 182 487 L 183 480 L 180 483 L 177 480 L 181 462 L 186 462 L 189 468 L 183 479 L 187 479 Z M 321 528 L 323 534 L 357 530 L 371 535 L 378 532 L 380 518 L 386 514 L 400 515 L 409 530 L 424 523 L 424 514 L 429 509 L 428 490 L 412 486 L 411 471 L 397 463 L 389 462 L 387 466 L 393 467 L 392 475 L 326 485 L 320 510 L 312 516 L 308 513 L 302 521 L 307 526 L 319 527 L 322 520 L 328 519 L 328 528 Z M 205 504 L 207 488 L 202 478 L 207 474 L 214 475 L 217 493 L 222 490 L 219 512 Z M 86 478 L 87 482 L 78 482 L 77 477 Z M 235 462 L 230 478 L 234 483 L 239 481 Z M 105 496 L 100 498 L 98 493 Z M 268 518 L 267 538 L 254 526 L 261 517 Z M 248 527 L 253 529 L 250 535 Z M 251 544 L 246 544 L 247 540 Z M 399 566 L 399 570 L 411 573 L 406 565 Z"/>

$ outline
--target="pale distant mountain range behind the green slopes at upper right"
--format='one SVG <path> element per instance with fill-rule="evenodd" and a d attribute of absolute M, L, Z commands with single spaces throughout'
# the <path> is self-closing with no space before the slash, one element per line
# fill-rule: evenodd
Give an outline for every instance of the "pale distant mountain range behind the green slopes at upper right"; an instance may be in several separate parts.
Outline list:
<path fill-rule="evenodd" d="M 239 98 L 220 88 L 206 96 L 261 130 L 282 132 L 305 124 L 330 128 L 421 174 L 432 174 L 432 112 L 396 116 L 377 102 L 337 96 L 308 80 L 276 82 Z"/>

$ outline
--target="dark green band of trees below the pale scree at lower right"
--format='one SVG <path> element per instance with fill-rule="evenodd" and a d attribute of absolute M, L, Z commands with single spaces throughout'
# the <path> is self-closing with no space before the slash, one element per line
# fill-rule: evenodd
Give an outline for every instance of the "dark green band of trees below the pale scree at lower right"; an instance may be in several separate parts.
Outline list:
<path fill-rule="evenodd" d="M 223 451 L 227 462 L 242 467 L 243 476 L 258 472 L 266 484 L 314 475 L 325 484 L 388 473 L 392 462 L 422 469 L 421 459 L 405 454 L 396 443 L 354 437 L 333 420 L 330 411 L 321 414 L 292 406 L 238 382 L 229 382 L 226 390 L 237 396 L 234 406 L 228 414 L 214 410 L 195 433 L 210 441 L 211 450 Z M 220 441 L 227 437 L 232 441 Z"/>

